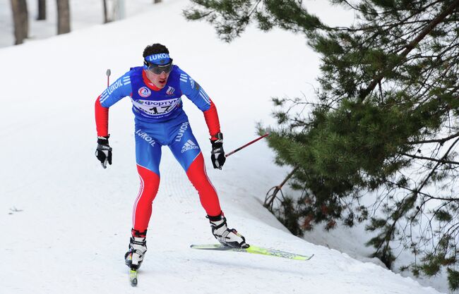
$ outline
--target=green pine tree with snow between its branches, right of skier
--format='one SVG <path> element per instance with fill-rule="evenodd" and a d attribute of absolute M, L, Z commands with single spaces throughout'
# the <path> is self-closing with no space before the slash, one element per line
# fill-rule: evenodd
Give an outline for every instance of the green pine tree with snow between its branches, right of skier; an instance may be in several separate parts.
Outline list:
<path fill-rule="evenodd" d="M 458 289 L 459 0 L 330 0 L 354 11 L 347 27 L 326 25 L 300 0 L 192 2 L 186 18 L 227 42 L 254 22 L 301 33 L 321 54 L 314 99 L 273 99 L 268 142 L 278 164 L 297 167 L 291 183 L 302 190 L 301 205 L 283 211 L 305 229 L 367 221 L 376 234 L 367 245 L 388 267 L 402 244 L 416 257 L 406 269 L 446 268 Z M 374 205 L 361 204 L 367 195 Z"/>

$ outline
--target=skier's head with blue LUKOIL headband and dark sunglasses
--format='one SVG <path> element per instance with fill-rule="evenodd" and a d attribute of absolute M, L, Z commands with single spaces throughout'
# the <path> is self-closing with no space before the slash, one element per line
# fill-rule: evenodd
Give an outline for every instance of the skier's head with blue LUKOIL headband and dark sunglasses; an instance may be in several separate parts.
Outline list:
<path fill-rule="evenodd" d="M 143 49 L 143 70 L 156 87 L 165 87 L 173 67 L 169 50 L 164 45 L 155 43 Z"/>

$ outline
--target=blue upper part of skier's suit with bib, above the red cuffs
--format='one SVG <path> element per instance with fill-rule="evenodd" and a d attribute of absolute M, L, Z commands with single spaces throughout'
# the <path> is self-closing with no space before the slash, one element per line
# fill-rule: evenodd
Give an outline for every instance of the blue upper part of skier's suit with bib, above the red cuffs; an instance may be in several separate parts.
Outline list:
<path fill-rule="evenodd" d="M 184 113 L 181 96 L 184 94 L 201 111 L 210 109 L 211 101 L 197 82 L 174 65 L 167 83 L 159 91 L 151 90 L 143 80 L 143 67 L 131 68 L 100 95 L 100 104 L 109 108 L 129 96 L 136 119 L 148 123 L 169 121 Z"/>

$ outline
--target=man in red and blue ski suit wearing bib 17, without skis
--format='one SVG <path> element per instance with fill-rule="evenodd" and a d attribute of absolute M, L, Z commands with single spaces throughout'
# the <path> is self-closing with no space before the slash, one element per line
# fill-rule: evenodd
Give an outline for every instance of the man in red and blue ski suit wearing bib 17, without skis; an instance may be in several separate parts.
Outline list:
<path fill-rule="evenodd" d="M 161 147 L 167 145 L 179 161 L 186 175 L 198 190 L 199 199 L 207 213 L 212 233 L 223 245 L 249 247 L 245 238 L 227 228 L 217 192 L 205 173 L 204 159 L 181 102 L 188 97 L 203 111 L 212 144 L 211 160 L 215 169 L 225 164 L 223 135 L 217 109 L 203 88 L 172 63 L 169 50 L 162 44 L 153 44 L 143 51 L 143 67 L 131 68 L 110 85 L 95 102 L 97 149 L 95 155 L 104 169 L 112 164 L 109 147 L 108 110 L 121 98 L 129 96 L 136 125 L 136 162 L 141 188 L 133 206 L 132 230 L 126 264 L 140 267 L 145 252 L 148 222 L 152 203 L 160 184 Z"/>

